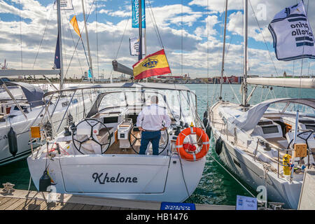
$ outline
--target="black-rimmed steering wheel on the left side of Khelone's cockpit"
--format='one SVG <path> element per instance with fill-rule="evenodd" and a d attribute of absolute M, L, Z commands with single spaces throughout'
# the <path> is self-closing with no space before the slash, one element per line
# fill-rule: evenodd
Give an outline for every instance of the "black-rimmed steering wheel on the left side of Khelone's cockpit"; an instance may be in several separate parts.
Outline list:
<path fill-rule="evenodd" d="M 90 126 L 90 128 L 91 128 L 90 134 L 77 134 L 78 125 L 83 125 L 84 123 L 86 123 L 86 125 Z M 106 125 L 104 125 L 104 123 L 100 122 L 99 120 L 86 118 L 86 119 L 80 121 L 80 123 L 78 123 L 78 125 L 76 125 L 76 127 L 74 127 L 74 129 L 73 129 L 72 141 L 73 141 L 74 147 L 76 148 L 76 150 L 79 153 L 85 155 L 85 153 L 83 153 L 81 151 L 81 149 L 82 149 L 81 146 L 82 146 L 82 144 L 85 144 L 87 141 L 94 141 L 99 146 L 99 148 L 101 150 L 101 154 L 104 154 L 107 151 L 107 149 L 109 149 L 109 146 L 111 145 L 111 133 L 109 132 L 109 129 L 106 127 Z M 97 127 L 99 134 L 97 134 L 97 130 L 94 127 Z M 102 144 L 102 142 L 99 141 L 98 137 L 104 137 L 104 136 L 106 136 L 106 134 L 108 136 L 108 138 L 106 140 L 109 140 L 109 141 L 107 143 Z M 84 148 L 84 150 L 85 151 L 94 151 L 94 150 L 89 150 L 87 148 Z"/>

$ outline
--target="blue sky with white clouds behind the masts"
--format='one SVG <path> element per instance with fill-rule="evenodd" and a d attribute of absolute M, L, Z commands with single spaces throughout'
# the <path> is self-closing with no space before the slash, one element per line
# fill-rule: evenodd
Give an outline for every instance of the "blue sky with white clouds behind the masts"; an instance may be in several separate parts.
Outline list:
<path fill-rule="evenodd" d="M 83 1 L 94 77 L 104 73 L 104 78 L 109 78 L 113 59 L 132 68 L 138 57 L 130 56 L 129 38 L 138 36 L 139 31 L 132 28 L 131 0 Z M 315 13 L 310 13 L 314 12 L 315 3 L 308 1 L 304 0 L 304 5 L 312 30 L 315 30 Z M 276 13 L 297 2 L 248 0 L 249 75 L 282 76 L 283 71 L 294 76 L 300 76 L 301 71 L 302 75 L 314 73 L 314 59 L 278 61 L 267 29 Z M 52 68 L 57 42 L 57 10 L 54 10 L 53 3 L 54 0 L 0 0 L 0 66 L 6 59 L 10 69 Z M 146 0 L 147 53 L 156 52 L 164 46 L 173 76 L 218 76 L 222 62 L 224 7 L 225 0 Z M 243 0 L 229 1 L 226 76 L 242 74 L 243 12 Z M 62 10 L 66 78 L 80 77 L 88 69 L 83 45 L 69 24 L 73 15 L 76 15 L 80 31 L 83 31 L 81 0 L 73 0 L 73 10 Z M 86 41 L 84 30 L 85 49 Z M 113 74 L 114 77 L 120 75 Z"/>

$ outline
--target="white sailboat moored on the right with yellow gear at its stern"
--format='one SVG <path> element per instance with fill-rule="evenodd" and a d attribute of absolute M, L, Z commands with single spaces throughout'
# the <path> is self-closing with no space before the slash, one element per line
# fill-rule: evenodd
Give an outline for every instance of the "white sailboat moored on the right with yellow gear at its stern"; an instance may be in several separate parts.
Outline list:
<path fill-rule="evenodd" d="M 265 186 L 269 201 L 297 209 L 304 172 L 315 166 L 315 99 L 269 99 L 251 106 L 248 100 L 253 92 L 247 96 L 247 85 L 314 88 L 315 82 L 312 78 L 247 78 L 247 0 L 244 7 L 242 104 L 220 97 L 209 107 L 205 121 L 209 120 L 217 155 L 232 172 L 254 189 Z M 223 70 L 224 50 L 221 79 Z"/>

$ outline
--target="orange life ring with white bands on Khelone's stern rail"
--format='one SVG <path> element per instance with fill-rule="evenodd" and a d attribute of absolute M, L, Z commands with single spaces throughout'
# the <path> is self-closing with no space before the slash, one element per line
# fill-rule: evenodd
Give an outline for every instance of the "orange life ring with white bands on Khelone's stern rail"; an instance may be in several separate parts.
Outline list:
<path fill-rule="evenodd" d="M 197 134 L 197 136 L 202 140 L 202 149 L 199 153 L 195 153 L 195 152 L 194 153 L 188 153 L 183 148 L 183 141 L 190 134 Z M 184 160 L 189 160 L 189 161 L 200 160 L 205 155 L 207 155 L 207 153 L 209 151 L 209 146 L 210 146 L 210 142 L 209 142 L 208 135 L 206 134 L 206 132 L 204 132 L 204 130 L 202 130 L 199 127 L 186 128 L 181 133 L 179 133 L 179 136 L 176 139 L 176 151 L 179 153 L 181 158 L 183 158 Z"/>

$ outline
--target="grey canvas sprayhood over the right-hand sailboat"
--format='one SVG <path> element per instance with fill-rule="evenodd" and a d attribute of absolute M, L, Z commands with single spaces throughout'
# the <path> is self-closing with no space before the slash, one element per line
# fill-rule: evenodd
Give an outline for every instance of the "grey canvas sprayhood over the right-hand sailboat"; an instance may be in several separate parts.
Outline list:
<path fill-rule="evenodd" d="M 279 102 L 288 102 L 288 103 L 296 103 L 296 104 L 304 104 L 307 106 L 311 106 L 311 108 L 315 109 L 315 99 L 291 99 L 291 98 L 282 98 L 282 99 L 269 99 L 265 102 L 261 102 L 260 104 L 256 104 L 251 109 L 243 113 L 238 118 L 235 118 L 234 124 L 239 127 L 244 132 L 248 132 L 251 134 L 254 128 L 258 124 L 260 118 L 267 111 L 270 104 L 279 103 Z"/>

